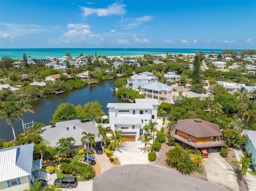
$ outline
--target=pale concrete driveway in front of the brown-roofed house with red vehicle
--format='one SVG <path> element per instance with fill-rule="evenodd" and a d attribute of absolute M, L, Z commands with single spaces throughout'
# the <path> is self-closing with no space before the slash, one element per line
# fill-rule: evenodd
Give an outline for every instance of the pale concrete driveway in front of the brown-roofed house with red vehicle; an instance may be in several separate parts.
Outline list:
<path fill-rule="evenodd" d="M 206 161 L 204 169 L 208 181 L 223 185 L 226 190 L 239 191 L 235 170 L 216 150 L 210 150 Z"/>

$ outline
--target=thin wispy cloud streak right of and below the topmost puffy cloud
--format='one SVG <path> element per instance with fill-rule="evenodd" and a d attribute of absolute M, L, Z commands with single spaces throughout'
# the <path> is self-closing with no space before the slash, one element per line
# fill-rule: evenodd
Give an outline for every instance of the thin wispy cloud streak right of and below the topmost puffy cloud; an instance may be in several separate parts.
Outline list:
<path fill-rule="evenodd" d="M 137 28 L 138 26 L 144 24 L 144 22 L 149 22 L 153 20 L 155 16 L 143 16 L 138 18 L 126 18 L 119 20 L 120 26 L 124 29 Z"/>

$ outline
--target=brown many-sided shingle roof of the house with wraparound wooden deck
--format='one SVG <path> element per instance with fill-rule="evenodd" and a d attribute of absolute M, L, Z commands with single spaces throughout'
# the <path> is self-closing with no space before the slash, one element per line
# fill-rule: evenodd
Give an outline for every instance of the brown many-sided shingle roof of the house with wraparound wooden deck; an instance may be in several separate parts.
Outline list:
<path fill-rule="evenodd" d="M 219 125 L 199 118 L 179 119 L 175 128 L 196 138 L 221 136 Z"/>

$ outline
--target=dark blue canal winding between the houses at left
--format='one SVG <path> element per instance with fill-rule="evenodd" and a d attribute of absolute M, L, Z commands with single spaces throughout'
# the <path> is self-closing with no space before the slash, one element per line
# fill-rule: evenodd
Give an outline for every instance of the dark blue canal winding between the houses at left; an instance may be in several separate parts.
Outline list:
<path fill-rule="evenodd" d="M 123 102 L 121 98 L 116 97 L 114 93 L 110 92 L 110 88 L 114 86 L 114 81 L 116 79 L 88 85 L 82 89 L 73 89 L 60 95 L 48 95 L 47 98 L 31 102 L 34 114 L 24 113 L 24 122 L 29 123 L 33 120 L 36 123 L 50 125 L 52 114 L 54 114 L 57 106 L 66 102 L 70 102 L 74 106 L 78 104 L 83 106 L 88 102 L 97 100 L 102 105 L 102 110 L 107 114 L 108 109 L 106 106 L 109 102 Z M 19 132 L 23 132 L 21 120 L 14 122 L 14 128 L 16 135 Z M 0 138 L 6 141 L 13 139 L 12 128 L 6 124 L 5 119 L 0 121 Z"/>

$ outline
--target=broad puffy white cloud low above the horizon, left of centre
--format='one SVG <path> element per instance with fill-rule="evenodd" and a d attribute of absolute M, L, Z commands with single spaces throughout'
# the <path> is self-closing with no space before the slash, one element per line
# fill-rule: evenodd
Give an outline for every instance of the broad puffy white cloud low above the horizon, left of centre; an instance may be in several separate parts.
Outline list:
<path fill-rule="evenodd" d="M 49 39 L 48 42 L 51 44 L 54 44 L 54 43 L 100 44 L 100 41 L 104 40 L 104 38 L 102 38 L 100 35 L 93 34 L 88 24 L 82 24 L 82 23 L 68 24 L 67 28 L 72 30 L 68 30 L 57 39 Z"/>

